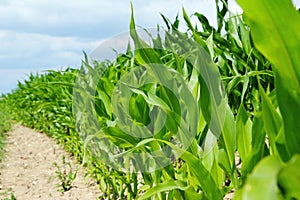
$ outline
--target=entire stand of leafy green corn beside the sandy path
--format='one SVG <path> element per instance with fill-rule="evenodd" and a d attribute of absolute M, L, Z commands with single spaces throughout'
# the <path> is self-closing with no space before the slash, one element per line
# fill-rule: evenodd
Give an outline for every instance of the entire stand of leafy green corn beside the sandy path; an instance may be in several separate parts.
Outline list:
<path fill-rule="evenodd" d="M 215 28 L 184 9 L 182 21 L 162 15 L 167 32 L 152 46 L 132 10 L 135 48 L 30 75 L 2 107 L 82 161 L 103 198 L 222 199 L 232 189 L 237 199 L 299 198 L 299 13 L 288 0 L 239 0 L 245 15 L 235 16 L 226 2 Z M 199 67 L 199 56 L 213 62 Z"/>

